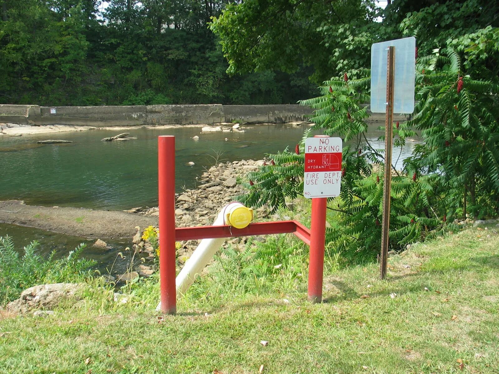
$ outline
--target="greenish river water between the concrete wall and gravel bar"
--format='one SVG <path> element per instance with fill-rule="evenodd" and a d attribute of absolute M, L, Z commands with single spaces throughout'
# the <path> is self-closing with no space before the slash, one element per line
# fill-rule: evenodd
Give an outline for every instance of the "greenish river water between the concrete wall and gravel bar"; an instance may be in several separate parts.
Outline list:
<path fill-rule="evenodd" d="M 383 135 L 372 125 L 368 139 L 374 148 Z M 196 186 L 196 177 L 219 161 L 260 159 L 286 147 L 293 149 L 306 126 L 286 124 L 251 126 L 244 133 L 211 132 L 201 128 L 130 129 L 136 140 L 101 142 L 120 131 L 93 130 L 58 134 L 0 136 L 2 176 L 0 199 L 23 199 L 28 204 L 127 209 L 157 204 L 157 151 L 159 135 L 176 137 L 176 186 Z M 198 135 L 199 141 L 193 136 Z M 36 145 L 49 138 L 73 140 L 71 144 Z M 227 140 L 226 140 L 227 139 Z M 410 156 L 408 142 L 402 160 Z M 394 152 L 394 162 L 398 152 Z M 190 167 L 188 162 L 196 165 Z"/>

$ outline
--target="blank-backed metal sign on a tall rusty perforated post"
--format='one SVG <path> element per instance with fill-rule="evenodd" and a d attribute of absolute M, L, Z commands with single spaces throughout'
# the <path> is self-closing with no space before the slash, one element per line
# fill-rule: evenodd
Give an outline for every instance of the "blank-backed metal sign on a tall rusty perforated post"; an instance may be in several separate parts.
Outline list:
<path fill-rule="evenodd" d="M 393 113 L 414 112 L 416 39 L 408 37 L 371 46 L 371 112 L 385 113 L 385 177 L 381 231 L 381 279 L 386 277 L 390 231 Z"/>

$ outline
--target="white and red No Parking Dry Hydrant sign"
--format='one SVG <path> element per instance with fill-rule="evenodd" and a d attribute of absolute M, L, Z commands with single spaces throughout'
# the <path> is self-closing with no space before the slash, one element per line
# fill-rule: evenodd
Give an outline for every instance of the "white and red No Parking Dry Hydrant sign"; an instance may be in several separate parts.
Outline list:
<path fill-rule="evenodd" d="M 317 136 L 305 140 L 303 196 L 336 197 L 341 185 L 341 138 Z"/>

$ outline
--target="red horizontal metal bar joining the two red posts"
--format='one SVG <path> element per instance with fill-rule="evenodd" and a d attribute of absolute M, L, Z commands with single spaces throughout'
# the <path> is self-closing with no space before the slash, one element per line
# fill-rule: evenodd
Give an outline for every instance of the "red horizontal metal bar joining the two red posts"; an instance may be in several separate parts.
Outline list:
<path fill-rule="evenodd" d="M 310 245 L 310 231 L 296 221 L 256 222 L 245 228 L 235 228 L 229 225 L 176 227 L 175 240 L 229 238 L 233 236 L 252 236 L 294 233 L 297 237 Z"/>

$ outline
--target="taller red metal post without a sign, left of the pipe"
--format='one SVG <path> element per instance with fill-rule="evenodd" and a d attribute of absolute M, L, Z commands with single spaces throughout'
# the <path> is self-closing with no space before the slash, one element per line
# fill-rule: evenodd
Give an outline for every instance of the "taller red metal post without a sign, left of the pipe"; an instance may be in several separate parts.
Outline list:
<path fill-rule="evenodd" d="M 158 137 L 159 279 L 161 311 L 177 312 L 175 288 L 175 137 Z"/>

